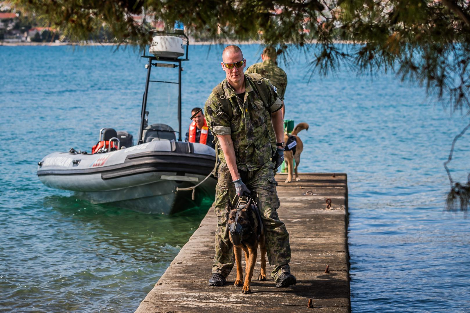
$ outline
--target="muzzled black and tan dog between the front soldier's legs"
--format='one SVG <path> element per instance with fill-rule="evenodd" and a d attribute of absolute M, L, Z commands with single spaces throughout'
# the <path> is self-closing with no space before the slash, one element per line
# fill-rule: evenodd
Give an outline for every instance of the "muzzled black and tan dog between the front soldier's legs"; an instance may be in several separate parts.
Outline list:
<path fill-rule="evenodd" d="M 261 251 L 261 270 L 258 280 L 266 280 L 266 243 L 263 222 L 259 211 L 258 213 L 256 211 L 258 211 L 258 207 L 251 197 L 248 197 L 247 201 L 242 201 L 240 198 L 235 206 L 232 206 L 230 199 L 228 200 L 227 228 L 235 253 L 235 286 L 242 286 L 242 250 L 245 252 L 246 276 L 242 293 L 251 292 L 251 276 L 256 263 L 258 244 Z"/>

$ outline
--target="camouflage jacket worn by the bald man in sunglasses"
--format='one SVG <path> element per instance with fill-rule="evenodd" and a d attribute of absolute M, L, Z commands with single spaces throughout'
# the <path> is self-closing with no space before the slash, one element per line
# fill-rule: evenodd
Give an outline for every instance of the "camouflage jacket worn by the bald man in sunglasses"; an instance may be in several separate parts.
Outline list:
<path fill-rule="evenodd" d="M 232 119 L 219 103 L 216 95 L 211 93 L 204 107 L 207 125 L 215 135 L 230 135 L 234 143 L 237 167 L 241 170 L 255 170 L 272 157 L 269 142 L 267 121 L 270 113 L 281 109 L 282 101 L 275 88 L 268 80 L 263 79 L 269 89 L 269 101 L 263 103 L 251 79 L 245 76 L 245 97 L 243 102 L 235 93 L 227 79 L 222 82 L 225 97 L 229 99 L 232 109 Z M 219 146 L 219 159 L 226 163 L 224 153 Z"/>

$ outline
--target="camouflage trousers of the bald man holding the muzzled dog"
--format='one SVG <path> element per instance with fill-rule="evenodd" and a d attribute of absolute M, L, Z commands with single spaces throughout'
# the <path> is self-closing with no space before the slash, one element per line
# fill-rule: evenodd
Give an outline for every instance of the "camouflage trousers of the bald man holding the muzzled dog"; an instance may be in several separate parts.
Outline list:
<path fill-rule="evenodd" d="M 261 212 L 265 226 L 266 254 L 273 270 L 271 276 L 277 280 L 283 272 L 290 273 L 290 244 L 289 233 L 284 223 L 279 220 L 276 211 L 279 208 L 279 198 L 273 168 L 274 164 L 268 161 L 257 170 L 246 172 L 246 175 L 242 175 L 242 180 L 250 189 Z M 228 199 L 230 198 L 233 205 L 236 203 L 235 185 L 227 164 L 220 162 L 217 179 L 215 214 L 218 223 L 215 230 L 215 257 L 212 273 L 227 277 L 235 262 L 233 245 L 228 238 L 226 227 Z"/>

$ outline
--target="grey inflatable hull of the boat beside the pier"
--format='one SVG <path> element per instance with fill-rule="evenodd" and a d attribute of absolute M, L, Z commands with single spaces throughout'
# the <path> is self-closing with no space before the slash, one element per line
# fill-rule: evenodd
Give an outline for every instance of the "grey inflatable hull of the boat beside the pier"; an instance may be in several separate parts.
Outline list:
<path fill-rule="evenodd" d="M 130 150 L 130 151 L 126 151 Z M 209 177 L 215 152 L 207 145 L 156 141 L 102 154 L 51 153 L 38 168 L 46 186 L 73 191 L 94 204 L 110 204 L 149 214 L 172 214 L 215 197 Z"/>

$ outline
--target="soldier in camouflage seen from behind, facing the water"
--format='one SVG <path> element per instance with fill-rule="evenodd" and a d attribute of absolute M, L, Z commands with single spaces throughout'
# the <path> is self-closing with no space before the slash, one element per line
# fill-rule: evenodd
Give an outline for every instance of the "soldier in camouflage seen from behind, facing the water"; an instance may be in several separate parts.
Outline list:
<path fill-rule="evenodd" d="M 277 94 L 282 100 L 282 117 L 285 115 L 284 93 L 287 87 L 287 75 L 283 69 L 277 66 L 277 53 L 274 47 L 266 47 L 261 53 L 262 62 L 255 63 L 246 69 L 245 73 L 258 73 L 277 89 Z"/>

